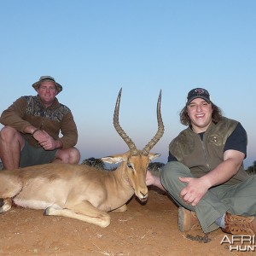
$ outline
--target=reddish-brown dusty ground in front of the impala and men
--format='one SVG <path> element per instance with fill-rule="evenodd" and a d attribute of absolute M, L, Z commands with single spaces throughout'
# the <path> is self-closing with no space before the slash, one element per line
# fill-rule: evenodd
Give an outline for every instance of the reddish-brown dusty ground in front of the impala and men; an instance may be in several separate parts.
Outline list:
<path fill-rule="evenodd" d="M 14 207 L 1 214 L 0 255 L 256 255 L 231 253 L 221 230 L 179 232 L 176 205 L 155 190 L 146 205 L 132 198 L 127 212 L 111 212 L 106 229 L 42 213 Z"/>

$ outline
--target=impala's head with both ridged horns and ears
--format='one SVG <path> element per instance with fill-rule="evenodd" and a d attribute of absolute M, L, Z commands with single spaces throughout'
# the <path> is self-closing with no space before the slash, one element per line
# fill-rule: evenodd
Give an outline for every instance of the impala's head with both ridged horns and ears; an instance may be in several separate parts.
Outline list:
<path fill-rule="evenodd" d="M 149 151 L 156 143 L 158 143 L 160 137 L 162 137 L 164 134 L 164 124 L 160 113 L 161 91 L 157 102 L 158 131 L 145 146 L 145 148 L 143 148 L 143 150 L 137 149 L 135 143 L 132 142 L 131 138 L 126 135 L 125 131 L 119 125 L 119 103 L 121 93 L 122 89 L 119 90 L 119 96 L 117 97 L 114 108 L 113 126 L 130 150 L 125 154 L 115 154 L 108 157 L 108 160 L 107 158 L 103 158 L 102 160 L 107 161 L 108 163 L 123 162 L 121 166 L 124 170 L 124 176 L 131 184 L 132 189 L 134 189 L 135 195 L 137 195 L 141 201 L 146 201 L 148 198 L 148 187 L 146 185 L 146 172 L 148 169 L 148 164 L 151 160 L 154 160 L 160 156 L 160 154 L 149 153 Z"/>

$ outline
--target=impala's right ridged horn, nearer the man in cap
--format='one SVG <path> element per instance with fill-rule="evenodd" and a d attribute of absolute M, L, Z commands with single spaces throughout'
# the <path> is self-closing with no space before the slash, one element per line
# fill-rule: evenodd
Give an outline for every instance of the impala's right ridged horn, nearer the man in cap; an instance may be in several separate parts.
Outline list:
<path fill-rule="evenodd" d="M 162 120 L 161 116 L 161 97 L 162 97 L 162 90 L 160 90 L 160 94 L 158 97 L 158 102 L 157 102 L 157 108 L 156 108 L 156 114 L 157 114 L 157 123 L 158 123 L 158 130 L 155 134 L 155 136 L 151 139 L 151 141 L 143 148 L 143 154 L 148 155 L 149 151 L 154 147 L 156 143 L 160 140 L 160 137 L 163 136 L 164 131 L 165 131 L 165 126 Z"/>

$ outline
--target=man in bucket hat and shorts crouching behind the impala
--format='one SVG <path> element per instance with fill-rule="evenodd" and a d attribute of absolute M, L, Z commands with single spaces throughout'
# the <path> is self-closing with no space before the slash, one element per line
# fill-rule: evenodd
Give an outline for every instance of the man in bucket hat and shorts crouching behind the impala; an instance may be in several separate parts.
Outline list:
<path fill-rule="evenodd" d="M 73 114 L 55 97 L 62 90 L 61 84 L 42 76 L 32 87 L 37 96 L 21 96 L 1 115 L 0 158 L 4 169 L 50 162 L 78 164 Z"/>

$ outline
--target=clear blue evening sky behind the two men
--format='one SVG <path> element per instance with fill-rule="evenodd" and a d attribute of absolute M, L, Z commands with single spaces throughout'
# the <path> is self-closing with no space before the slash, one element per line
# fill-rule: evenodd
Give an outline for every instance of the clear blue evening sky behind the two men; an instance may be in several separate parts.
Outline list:
<path fill-rule="evenodd" d="M 247 130 L 245 166 L 256 160 L 256 1 L 0 0 L 0 113 L 50 75 L 72 110 L 81 160 L 124 153 L 119 121 L 142 149 L 157 131 L 162 90 L 165 134 L 151 152 L 166 163 L 189 90 L 203 87 L 224 116 Z M 3 125 L 0 125 L 2 128 Z"/>

